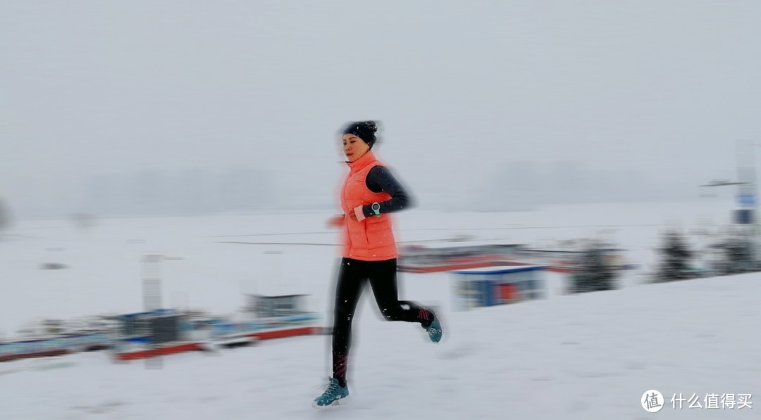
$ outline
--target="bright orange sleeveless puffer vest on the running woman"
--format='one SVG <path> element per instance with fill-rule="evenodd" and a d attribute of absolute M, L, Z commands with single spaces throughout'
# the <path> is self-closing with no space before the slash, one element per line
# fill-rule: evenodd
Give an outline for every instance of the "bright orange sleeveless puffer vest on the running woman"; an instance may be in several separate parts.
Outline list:
<path fill-rule="evenodd" d="M 391 198 L 385 192 L 374 193 L 365 184 L 370 169 L 382 166 L 371 151 L 350 162 L 349 176 L 341 188 L 341 208 L 346 216 L 343 242 L 343 257 L 363 261 L 384 261 L 397 257 L 396 240 L 393 238 L 390 214 L 380 217 L 370 216 L 361 221 L 352 220 L 349 210 L 365 204 L 387 201 Z M 361 215 L 358 215 L 361 217 Z"/>

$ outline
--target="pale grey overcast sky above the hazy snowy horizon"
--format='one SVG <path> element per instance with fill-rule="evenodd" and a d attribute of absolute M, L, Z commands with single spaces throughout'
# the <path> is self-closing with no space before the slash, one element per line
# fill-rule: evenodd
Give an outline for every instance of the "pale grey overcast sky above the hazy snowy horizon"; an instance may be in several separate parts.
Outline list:
<path fill-rule="evenodd" d="M 330 192 L 336 129 L 368 118 L 418 190 L 512 160 L 735 178 L 759 22 L 756 1 L 4 0 L 0 194 L 239 166 Z"/>

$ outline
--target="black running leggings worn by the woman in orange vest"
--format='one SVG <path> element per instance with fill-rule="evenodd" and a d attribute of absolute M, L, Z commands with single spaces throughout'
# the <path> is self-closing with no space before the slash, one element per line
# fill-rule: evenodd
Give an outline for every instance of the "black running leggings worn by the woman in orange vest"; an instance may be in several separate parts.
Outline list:
<path fill-rule="evenodd" d="M 357 302 L 370 280 L 375 302 L 388 321 L 431 324 L 433 315 L 415 302 L 400 301 L 396 288 L 396 259 L 361 261 L 342 258 L 333 314 L 333 377 L 345 384 L 346 362 L 352 343 L 352 319 Z"/>

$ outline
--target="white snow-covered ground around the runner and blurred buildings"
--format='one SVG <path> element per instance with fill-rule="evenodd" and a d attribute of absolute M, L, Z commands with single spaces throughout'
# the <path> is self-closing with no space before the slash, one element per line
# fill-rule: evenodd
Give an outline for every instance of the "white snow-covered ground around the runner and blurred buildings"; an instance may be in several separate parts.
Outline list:
<path fill-rule="evenodd" d="M 631 250 L 643 270 L 664 226 L 728 221 L 731 203 L 606 204 L 525 213 L 398 216 L 400 241 L 470 234 L 543 245 L 591 235 Z M 326 213 L 20 223 L 0 242 L 0 330 L 42 317 L 140 311 L 140 257 L 164 254 L 164 304 L 224 313 L 242 292 L 307 292 L 330 319 L 336 232 Z M 254 243 L 256 242 L 256 243 Z M 284 243 L 291 245 L 284 245 Z M 65 270 L 40 270 L 43 263 Z M 440 305 L 445 338 L 380 320 L 370 296 L 355 321 L 352 403 L 310 407 L 330 375 L 327 336 L 304 336 L 218 355 L 115 364 L 106 352 L 0 364 L 0 418 L 759 418 L 753 409 L 672 409 L 670 397 L 759 393 L 758 274 L 642 284 L 451 311 L 447 273 L 402 273 L 403 298 Z M 648 413 L 645 390 L 666 407 Z M 755 405 L 755 404 L 754 404 Z"/>

